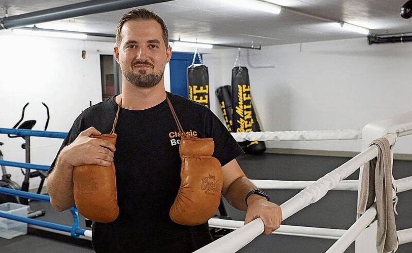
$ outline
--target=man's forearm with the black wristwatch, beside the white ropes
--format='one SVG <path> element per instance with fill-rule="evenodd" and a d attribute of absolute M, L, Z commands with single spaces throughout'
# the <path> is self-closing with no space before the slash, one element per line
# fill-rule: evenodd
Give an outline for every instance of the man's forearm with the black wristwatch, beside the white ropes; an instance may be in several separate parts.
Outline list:
<path fill-rule="evenodd" d="M 248 207 L 245 203 L 245 197 L 246 194 L 248 194 L 248 192 L 253 189 L 257 189 L 257 187 L 247 177 L 244 176 L 233 181 L 224 196 L 233 207 L 246 211 Z M 248 198 L 248 204 L 250 204 L 251 201 L 259 198 L 266 199 L 262 196 L 253 194 Z"/>

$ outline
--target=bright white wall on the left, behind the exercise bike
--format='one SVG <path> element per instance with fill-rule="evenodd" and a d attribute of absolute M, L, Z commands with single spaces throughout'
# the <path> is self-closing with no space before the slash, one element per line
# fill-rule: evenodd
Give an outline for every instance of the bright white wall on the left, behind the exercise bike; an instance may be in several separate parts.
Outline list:
<path fill-rule="evenodd" d="M 26 37 L 8 31 L 0 33 L 0 127 L 12 128 L 20 119 L 25 103 L 24 120 L 36 119 L 34 130 L 44 130 L 46 109 L 50 108 L 49 131 L 67 132 L 74 119 L 89 106 L 101 101 L 99 54 L 111 54 L 112 43 Z M 87 51 L 82 59 L 82 50 Z M 4 159 L 25 161 L 20 147 L 22 138 L 0 135 Z M 31 138 L 31 162 L 50 164 L 62 139 Z M 7 167 L 12 179 L 21 185 L 18 168 Z M 30 188 L 40 180 L 30 180 Z"/>

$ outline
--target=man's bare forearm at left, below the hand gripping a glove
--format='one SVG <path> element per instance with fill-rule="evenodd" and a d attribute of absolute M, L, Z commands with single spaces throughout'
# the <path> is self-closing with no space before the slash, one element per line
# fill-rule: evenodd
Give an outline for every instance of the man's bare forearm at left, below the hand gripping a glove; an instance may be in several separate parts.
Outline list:
<path fill-rule="evenodd" d="M 73 166 L 64 162 L 61 153 L 56 165 L 47 177 L 47 190 L 51 205 L 59 211 L 75 205 L 73 196 Z"/>

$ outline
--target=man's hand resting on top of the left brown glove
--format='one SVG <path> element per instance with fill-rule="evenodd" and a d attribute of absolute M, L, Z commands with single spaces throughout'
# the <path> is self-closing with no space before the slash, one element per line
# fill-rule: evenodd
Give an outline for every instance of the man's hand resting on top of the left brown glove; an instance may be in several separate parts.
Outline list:
<path fill-rule="evenodd" d="M 101 133 L 93 127 L 81 132 L 72 144 L 61 150 L 60 158 L 72 166 L 87 164 L 110 166 L 116 148 L 108 141 L 91 138 L 98 135 Z"/>

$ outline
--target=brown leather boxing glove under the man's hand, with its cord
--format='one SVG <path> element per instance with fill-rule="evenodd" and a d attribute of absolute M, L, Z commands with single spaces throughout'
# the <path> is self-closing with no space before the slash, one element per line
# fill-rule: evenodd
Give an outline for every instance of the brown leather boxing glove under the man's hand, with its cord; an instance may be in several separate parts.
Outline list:
<path fill-rule="evenodd" d="M 105 140 L 116 145 L 115 128 L 120 107 L 121 101 L 113 122 L 112 132 L 91 138 Z M 73 191 L 76 207 L 85 218 L 107 223 L 116 220 L 119 216 L 116 169 L 113 162 L 109 167 L 96 164 L 75 166 L 73 168 Z"/>

